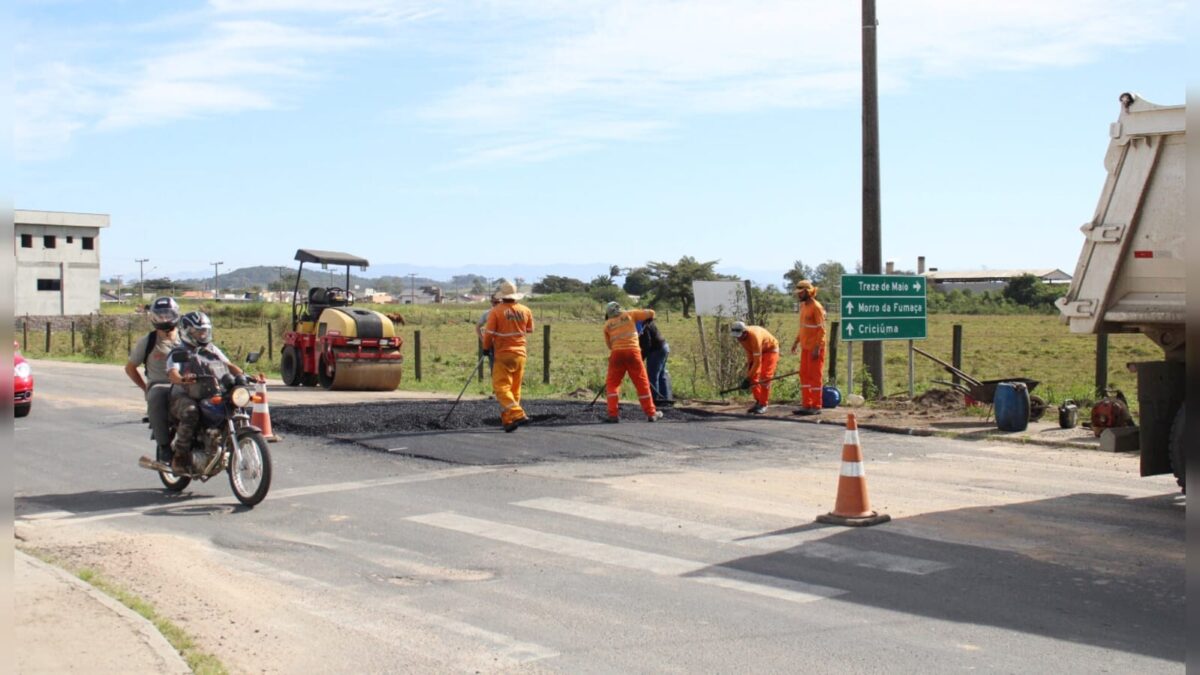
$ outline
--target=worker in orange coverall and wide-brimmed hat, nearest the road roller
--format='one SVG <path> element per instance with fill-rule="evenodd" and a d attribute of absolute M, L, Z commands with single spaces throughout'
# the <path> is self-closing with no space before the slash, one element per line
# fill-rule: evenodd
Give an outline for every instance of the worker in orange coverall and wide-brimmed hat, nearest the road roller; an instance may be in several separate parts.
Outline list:
<path fill-rule="evenodd" d="M 521 407 L 521 380 L 524 377 L 526 335 L 533 333 L 533 312 L 517 303 L 521 294 L 511 281 L 502 281 L 496 294 L 500 301 L 487 313 L 484 351 L 496 352 L 492 392 L 496 402 L 500 404 L 500 424 L 505 432 L 512 432 L 529 422 Z"/>

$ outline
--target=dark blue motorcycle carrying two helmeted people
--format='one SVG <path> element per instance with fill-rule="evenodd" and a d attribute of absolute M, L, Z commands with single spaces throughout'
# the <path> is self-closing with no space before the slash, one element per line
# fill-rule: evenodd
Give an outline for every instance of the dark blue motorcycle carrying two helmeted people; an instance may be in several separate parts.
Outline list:
<path fill-rule="evenodd" d="M 192 436 L 187 472 L 175 473 L 169 465 L 148 456 L 142 456 L 138 466 L 157 471 L 158 479 L 172 492 L 182 491 L 193 478 L 203 483 L 227 472 L 238 501 L 253 507 L 266 497 L 271 486 L 271 453 L 262 429 L 250 422 L 250 406 L 257 394 L 250 392 L 245 376 L 232 374 L 202 375 L 196 384 L 204 395 L 197 401 L 200 419 Z M 170 436 L 175 436 L 174 420 Z"/>

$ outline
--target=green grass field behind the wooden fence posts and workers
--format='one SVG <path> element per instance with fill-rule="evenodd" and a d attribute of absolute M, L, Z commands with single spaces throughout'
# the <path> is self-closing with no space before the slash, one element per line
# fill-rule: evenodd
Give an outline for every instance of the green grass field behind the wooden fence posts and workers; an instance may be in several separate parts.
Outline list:
<path fill-rule="evenodd" d="M 530 303 L 534 311 L 535 330 L 529 339 L 524 392 L 536 398 L 565 395 L 581 388 L 593 392 L 602 386 L 607 368 L 607 351 L 601 334 L 599 305 L 587 303 Z M 187 310 L 190 307 L 185 307 Z M 211 310 L 216 328 L 216 341 L 234 359 L 242 359 L 251 351 L 272 350 L 264 354 L 258 365 L 262 370 L 278 375 L 278 351 L 282 331 L 289 323 L 290 310 L 275 305 L 223 305 L 205 307 Z M 406 325 L 400 327 L 404 338 L 404 375 L 402 389 L 457 393 L 476 363 L 474 322 L 486 309 L 485 305 L 440 306 L 386 306 L 372 307 L 385 312 L 400 311 Z M 830 321 L 836 317 L 830 316 Z M 103 358 L 83 356 L 82 329 L 76 335 L 72 354 L 71 334 L 67 329 L 52 333 L 52 358 L 74 358 L 124 363 L 128 345 L 149 330 L 140 315 L 114 312 L 116 335 Z M 671 344 L 668 370 L 676 396 L 685 399 L 713 399 L 716 392 L 732 387 L 742 377 L 744 357 L 739 347 L 726 335 L 728 322 L 718 325 L 710 317 L 703 319 L 704 346 L 708 369 L 701 347 L 700 325 L 695 317 L 684 319 L 678 312 L 660 312 L 662 334 Z M 784 345 L 779 374 L 794 371 L 797 357 L 787 353 L 796 335 L 794 315 L 775 315 L 767 322 L 768 328 Z M 1040 382 L 1037 394 L 1050 402 L 1075 399 L 1087 402 L 1094 399 L 1096 336 L 1073 335 L 1056 316 L 954 316 L 932 315 L 929 318 L 929 339 L 917 346 L 943 360 L 950 360 L 952 331 L 954 324 L 962 325 L 962 370 L 978 380 L 1001 377 L 1028 377 Z M 550 335 L 550 383 L 544 383 L 546 327 Z M 270 333 L 270 339 L 268 334 Z M 420 370 L 416 378 L 416 344 L 420 335 Z M 23 331 L 18 322 L 18 339 Z M 29 329 L 29 356 L 46 356 L 44 325 Z M 856 354 L 856 390 L 862 387 L 862 352 Z M 1109 338 L 1109 383 L 1122 389 L 1135 406 L 1135 378 L 1126 364 L 1138 360 L 1160 359 L 1160 351 L 1141 335 L 1111 335 Z M 846 345 L 838 345 L 838 375 L 830 380 L 845 392 Z M 916 357 L 914 386 L 917 393 L 938 387 L 934 380 L 948 380 L 948 375 L 935 363 Z M 884 394 L 900 395 L 908 390 L 908 352 L 902 341 L 884 345 Z M 469 392 L 490 392 L 490 381 L 473 382 Z M 773 399 L 792 401 L 799 396 L 797 378 L 786 378 L 773 387 Z M 631 386 L 625 384 L 623 398 L 632 400 Z"/>

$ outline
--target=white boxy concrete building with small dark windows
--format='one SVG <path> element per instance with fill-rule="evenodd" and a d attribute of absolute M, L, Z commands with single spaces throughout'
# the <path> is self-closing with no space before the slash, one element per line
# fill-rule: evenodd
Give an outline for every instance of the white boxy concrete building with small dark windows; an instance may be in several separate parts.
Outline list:
<path fill-rule="evenodd" d="M 107 214 L 13 210 L 17 316 L 100 311 L 100 231 Z"/>

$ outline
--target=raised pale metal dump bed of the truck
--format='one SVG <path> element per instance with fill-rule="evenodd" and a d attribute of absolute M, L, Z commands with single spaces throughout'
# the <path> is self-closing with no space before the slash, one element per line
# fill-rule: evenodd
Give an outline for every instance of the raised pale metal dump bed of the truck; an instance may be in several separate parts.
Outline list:
<path fill-rule="evenodd" d="M 1057 305 L 1072 333 L 1140 330 L 1170 354 L 1184 325 L 1184 107 L 1123 94 L 1121 108 L 1104 190 Z"/>

